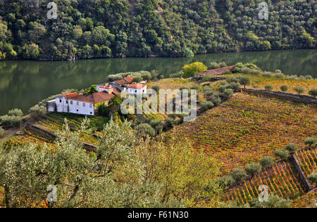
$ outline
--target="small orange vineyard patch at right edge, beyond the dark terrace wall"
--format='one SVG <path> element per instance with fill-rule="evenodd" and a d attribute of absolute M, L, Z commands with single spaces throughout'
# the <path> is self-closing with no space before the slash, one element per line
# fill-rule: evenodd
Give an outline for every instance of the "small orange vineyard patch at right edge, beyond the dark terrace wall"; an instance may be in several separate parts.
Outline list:
<path fill-rule="evenodd" d="M 316 149 L 313 150 L 300 150 L 295 153 L 295 156 L 299 160 L 299 164 L 304 171 L 306 177 L 311 175 L 311 173 L 317 171 L 317 152 Z"/>

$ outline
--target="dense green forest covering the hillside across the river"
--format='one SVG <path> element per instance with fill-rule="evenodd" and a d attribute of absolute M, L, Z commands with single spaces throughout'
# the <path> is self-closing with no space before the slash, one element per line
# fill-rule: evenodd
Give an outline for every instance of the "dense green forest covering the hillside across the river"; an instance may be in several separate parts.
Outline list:
<path fill-rule="evenodd" d="M 192 56 L 316 47 L 316 0 L 0 1 L 0 60 Z"/>

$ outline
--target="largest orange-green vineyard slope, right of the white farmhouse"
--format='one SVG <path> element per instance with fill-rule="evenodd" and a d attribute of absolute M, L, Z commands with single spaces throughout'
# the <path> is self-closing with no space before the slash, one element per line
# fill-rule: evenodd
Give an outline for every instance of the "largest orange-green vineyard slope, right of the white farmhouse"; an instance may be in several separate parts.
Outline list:
<path fill-rule="evenodd" d="M 316 133 L 316 113 L 313 106 L 239 93 L 173 133 L 216 157 L 226 174 L 290 142 L 304 147 L 303 141 Z"/>

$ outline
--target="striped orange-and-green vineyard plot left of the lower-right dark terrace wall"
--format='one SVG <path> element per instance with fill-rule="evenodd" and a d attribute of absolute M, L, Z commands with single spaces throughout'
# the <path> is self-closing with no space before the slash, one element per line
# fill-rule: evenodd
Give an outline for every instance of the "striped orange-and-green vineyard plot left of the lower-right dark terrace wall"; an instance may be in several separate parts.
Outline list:
<path fill-rule="evenodd" d="M 271 169 L 262 171 L 253 178 L 244 181 L 241 185 L 228 190 L 226 195 L 227 201 L 237 201 L 239 204 L 259 197 L 259 186 L 267 185 L 268 192 L 284 198 L 295 198 L 304 194 L 299 174 L 289 162 L 279 162 Z"/>

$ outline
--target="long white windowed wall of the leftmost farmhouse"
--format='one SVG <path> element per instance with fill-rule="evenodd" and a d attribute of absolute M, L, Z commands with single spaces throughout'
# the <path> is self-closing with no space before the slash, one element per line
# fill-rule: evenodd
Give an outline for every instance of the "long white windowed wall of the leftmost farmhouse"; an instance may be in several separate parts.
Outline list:
<path fill-rule="evenodd" d="M 79 115 L 94 116 L 94 104 L 67 100 L 65 96 L 56 98 L 57 112 L 70 112 Z"/>

